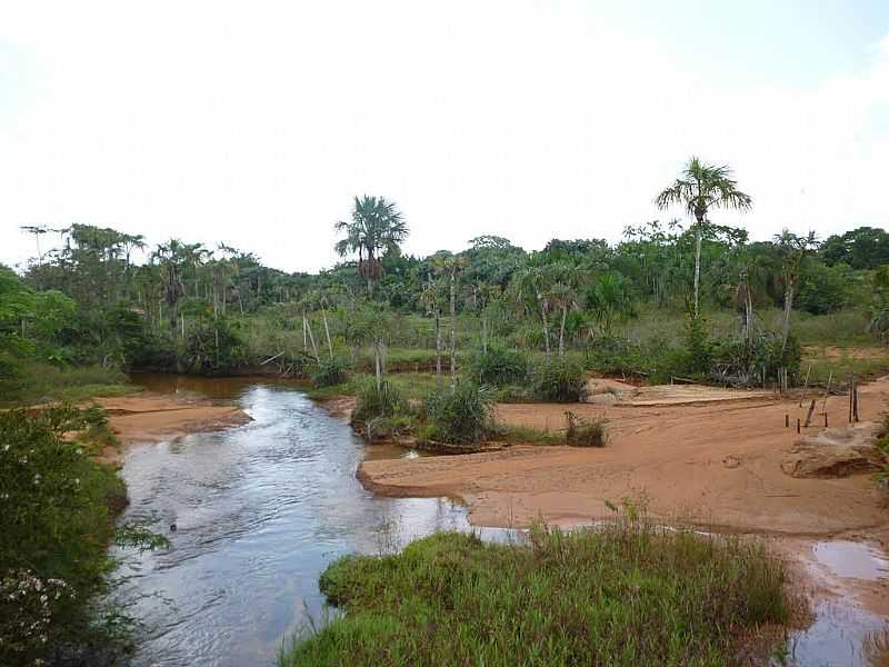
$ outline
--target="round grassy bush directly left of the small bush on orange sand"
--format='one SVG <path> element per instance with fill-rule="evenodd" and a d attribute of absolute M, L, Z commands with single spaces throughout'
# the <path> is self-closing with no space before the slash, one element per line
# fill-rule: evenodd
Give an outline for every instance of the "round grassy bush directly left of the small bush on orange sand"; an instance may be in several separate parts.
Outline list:
<path fill-rule="evenodd" d="M 432 437 L 449 445 L 476 445 L 493 425 L 493 391 L 472 382 L 439 389 L 426 401 Z"/>

